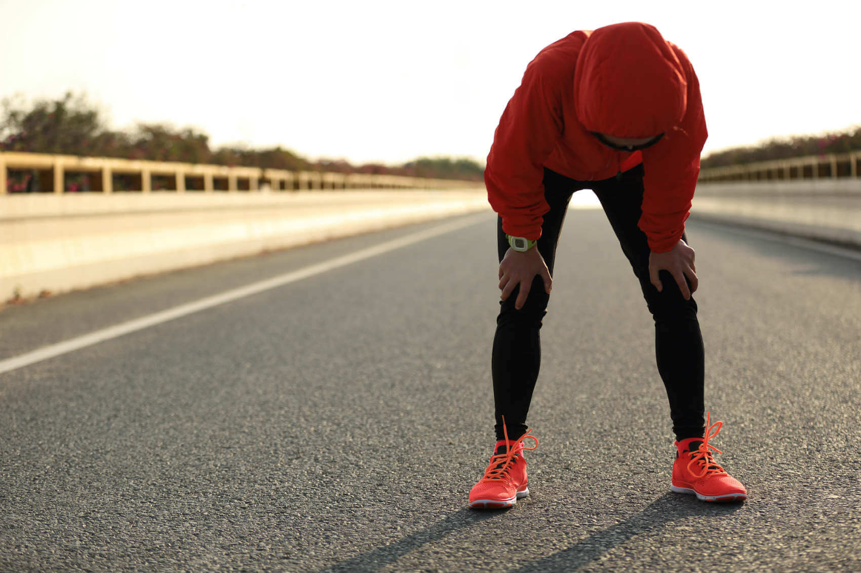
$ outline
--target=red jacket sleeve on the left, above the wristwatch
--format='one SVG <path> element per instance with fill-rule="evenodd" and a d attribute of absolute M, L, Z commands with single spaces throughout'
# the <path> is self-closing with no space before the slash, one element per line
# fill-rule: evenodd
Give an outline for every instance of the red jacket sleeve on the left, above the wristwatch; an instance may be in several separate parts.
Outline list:
<path fill-rule="evenodd" d="M 544 214 L 544 161 L 564 129 L 561 78 L 554 66 L 534 59 L 499 120 L 487 156 L 487 200 L 514 237 L 541 237 Z"/>

